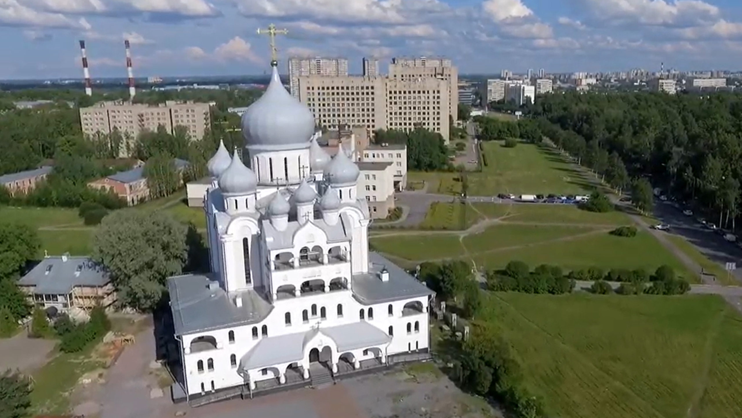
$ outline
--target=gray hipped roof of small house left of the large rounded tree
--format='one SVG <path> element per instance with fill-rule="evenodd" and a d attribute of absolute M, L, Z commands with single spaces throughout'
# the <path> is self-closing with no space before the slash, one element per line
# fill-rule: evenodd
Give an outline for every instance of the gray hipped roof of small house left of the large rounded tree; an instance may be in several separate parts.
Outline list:
<path fill-rule="evenodd" d="M 66 260 L 66 261 L 65 261 Z M 34 286 L 33 293 L 66 295 L 76 286 L 105 286 L 108 272 L 88 257 L 46 257 L 19 279 L 19 286 Z"/>

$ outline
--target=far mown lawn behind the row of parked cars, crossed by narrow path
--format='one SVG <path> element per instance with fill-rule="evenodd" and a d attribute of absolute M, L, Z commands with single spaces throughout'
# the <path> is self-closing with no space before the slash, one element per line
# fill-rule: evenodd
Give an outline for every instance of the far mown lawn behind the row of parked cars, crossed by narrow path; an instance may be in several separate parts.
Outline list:
<path fill-rule="evenodd" d="M 593 189 L 582 172 L 545 146 L 519 143 L 515 148 L 505 148 L 503 141 L 490 141 L 484 143 L 484 153 L 487 166 L 482 172 L 467 173 L 471 196 L 499 193 L 577 195 Z M 458 195 L 462 192 L 458 173 L 410 172 L 408 179 L 424 180 L 430 193 Z"/>

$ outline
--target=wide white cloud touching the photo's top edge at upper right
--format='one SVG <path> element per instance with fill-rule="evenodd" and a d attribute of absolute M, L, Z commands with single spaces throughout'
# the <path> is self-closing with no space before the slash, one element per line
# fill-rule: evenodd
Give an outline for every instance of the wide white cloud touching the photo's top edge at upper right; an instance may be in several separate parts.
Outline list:
<path fill-rule="evenodd" d="M 615 24 L 692 26 L 718 19 L 719 8 L 700 0 L 577 0 L 594 19 Z"/>

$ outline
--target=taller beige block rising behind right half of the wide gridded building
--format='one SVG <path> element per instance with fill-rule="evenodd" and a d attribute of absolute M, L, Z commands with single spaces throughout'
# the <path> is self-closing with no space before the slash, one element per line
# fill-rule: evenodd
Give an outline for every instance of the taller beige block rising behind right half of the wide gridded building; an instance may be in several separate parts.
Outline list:
<path fill-rule="evenodd" d="M 389 78 L 404 82 L 417 79 L 439 79 L 446 83 L 448 91 L 448 114 L 453 121 L 459 120 L 459 71 L 447 58 L 397 57 L 389 65 Z"/>

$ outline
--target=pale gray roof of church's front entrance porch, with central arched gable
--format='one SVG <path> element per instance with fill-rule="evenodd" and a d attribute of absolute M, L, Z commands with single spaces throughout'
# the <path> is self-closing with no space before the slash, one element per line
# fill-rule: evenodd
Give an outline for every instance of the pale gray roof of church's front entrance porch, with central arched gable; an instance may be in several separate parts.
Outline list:
<path fill-rule="evenodd" d="M 391 341 L 387 333 L 367 321 L 336 327 L 319 327 L 303 333 L 261 339 L 240 359 L 240 368 L 252 370 L 281 363 L 300 362 L 304 357 L 306 343 L 318 333 L 332 339 L 338 346 L 339 353 L 387 344 Z"/>

